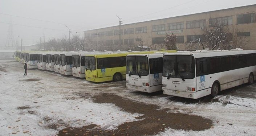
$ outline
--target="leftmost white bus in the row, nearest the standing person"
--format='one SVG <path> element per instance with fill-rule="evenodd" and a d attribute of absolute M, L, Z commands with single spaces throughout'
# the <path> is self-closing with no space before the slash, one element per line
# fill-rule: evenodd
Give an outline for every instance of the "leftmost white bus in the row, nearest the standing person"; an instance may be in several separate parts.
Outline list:
<path fill-rule="evenodd" d="M 25 53 L 25 63 L 27 63 L 27 69 L 36 69 L 37 53 Z"/>

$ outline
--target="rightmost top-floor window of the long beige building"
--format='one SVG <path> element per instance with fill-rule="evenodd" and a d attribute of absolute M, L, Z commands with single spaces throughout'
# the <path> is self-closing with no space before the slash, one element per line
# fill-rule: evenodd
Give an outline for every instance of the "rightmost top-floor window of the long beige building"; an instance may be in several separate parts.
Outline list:
<path fill-rule="evenodd" d="M 236 19 L 237 24 L 253 23 L 256 22 L 256 13 L 237 15 Z"/>

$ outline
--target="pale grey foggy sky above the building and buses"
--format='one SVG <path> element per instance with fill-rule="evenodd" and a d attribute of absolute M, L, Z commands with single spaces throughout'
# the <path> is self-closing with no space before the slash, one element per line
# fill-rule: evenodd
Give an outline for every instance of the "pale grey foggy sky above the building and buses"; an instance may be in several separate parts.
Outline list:
<path fill-rule="evenodd" d="M 0 49 L 9 23 L 20 45 L 49 38 L 83 36 L 84 30 L 256 4 L 255 0 L 0 0 Z M 31 19 L 29 19 L 31 18 Z M 41 20 L 41 21 L 40 21 Z M 33 27 L 31 27 L 33 26 Z M 19 38 L 20 36 L 21 38 Z M 16 46 L 16 43 L 15 43 Z"/>

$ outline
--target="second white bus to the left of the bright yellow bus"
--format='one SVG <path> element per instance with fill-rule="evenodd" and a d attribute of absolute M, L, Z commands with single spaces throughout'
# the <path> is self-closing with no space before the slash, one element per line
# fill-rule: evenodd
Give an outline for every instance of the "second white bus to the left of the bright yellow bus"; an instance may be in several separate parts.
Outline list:
<path fill-rule="evenodd" d="M 72 55 L 77 52 L 60 53 L 60 74 L 72 75 Z"/>

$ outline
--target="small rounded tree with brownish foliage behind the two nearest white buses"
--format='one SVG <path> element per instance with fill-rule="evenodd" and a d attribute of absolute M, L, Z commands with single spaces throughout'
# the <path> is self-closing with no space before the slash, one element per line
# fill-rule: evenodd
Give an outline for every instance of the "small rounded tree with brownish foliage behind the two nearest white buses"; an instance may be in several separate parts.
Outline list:
<path fill-rule="evenodd" d="M 166 37 L 164 38 L 164 44 L 166 45 L 167 50 L 177 50 L 176 40 L 177 37 L 175 34 L 166 34 Z"/>

